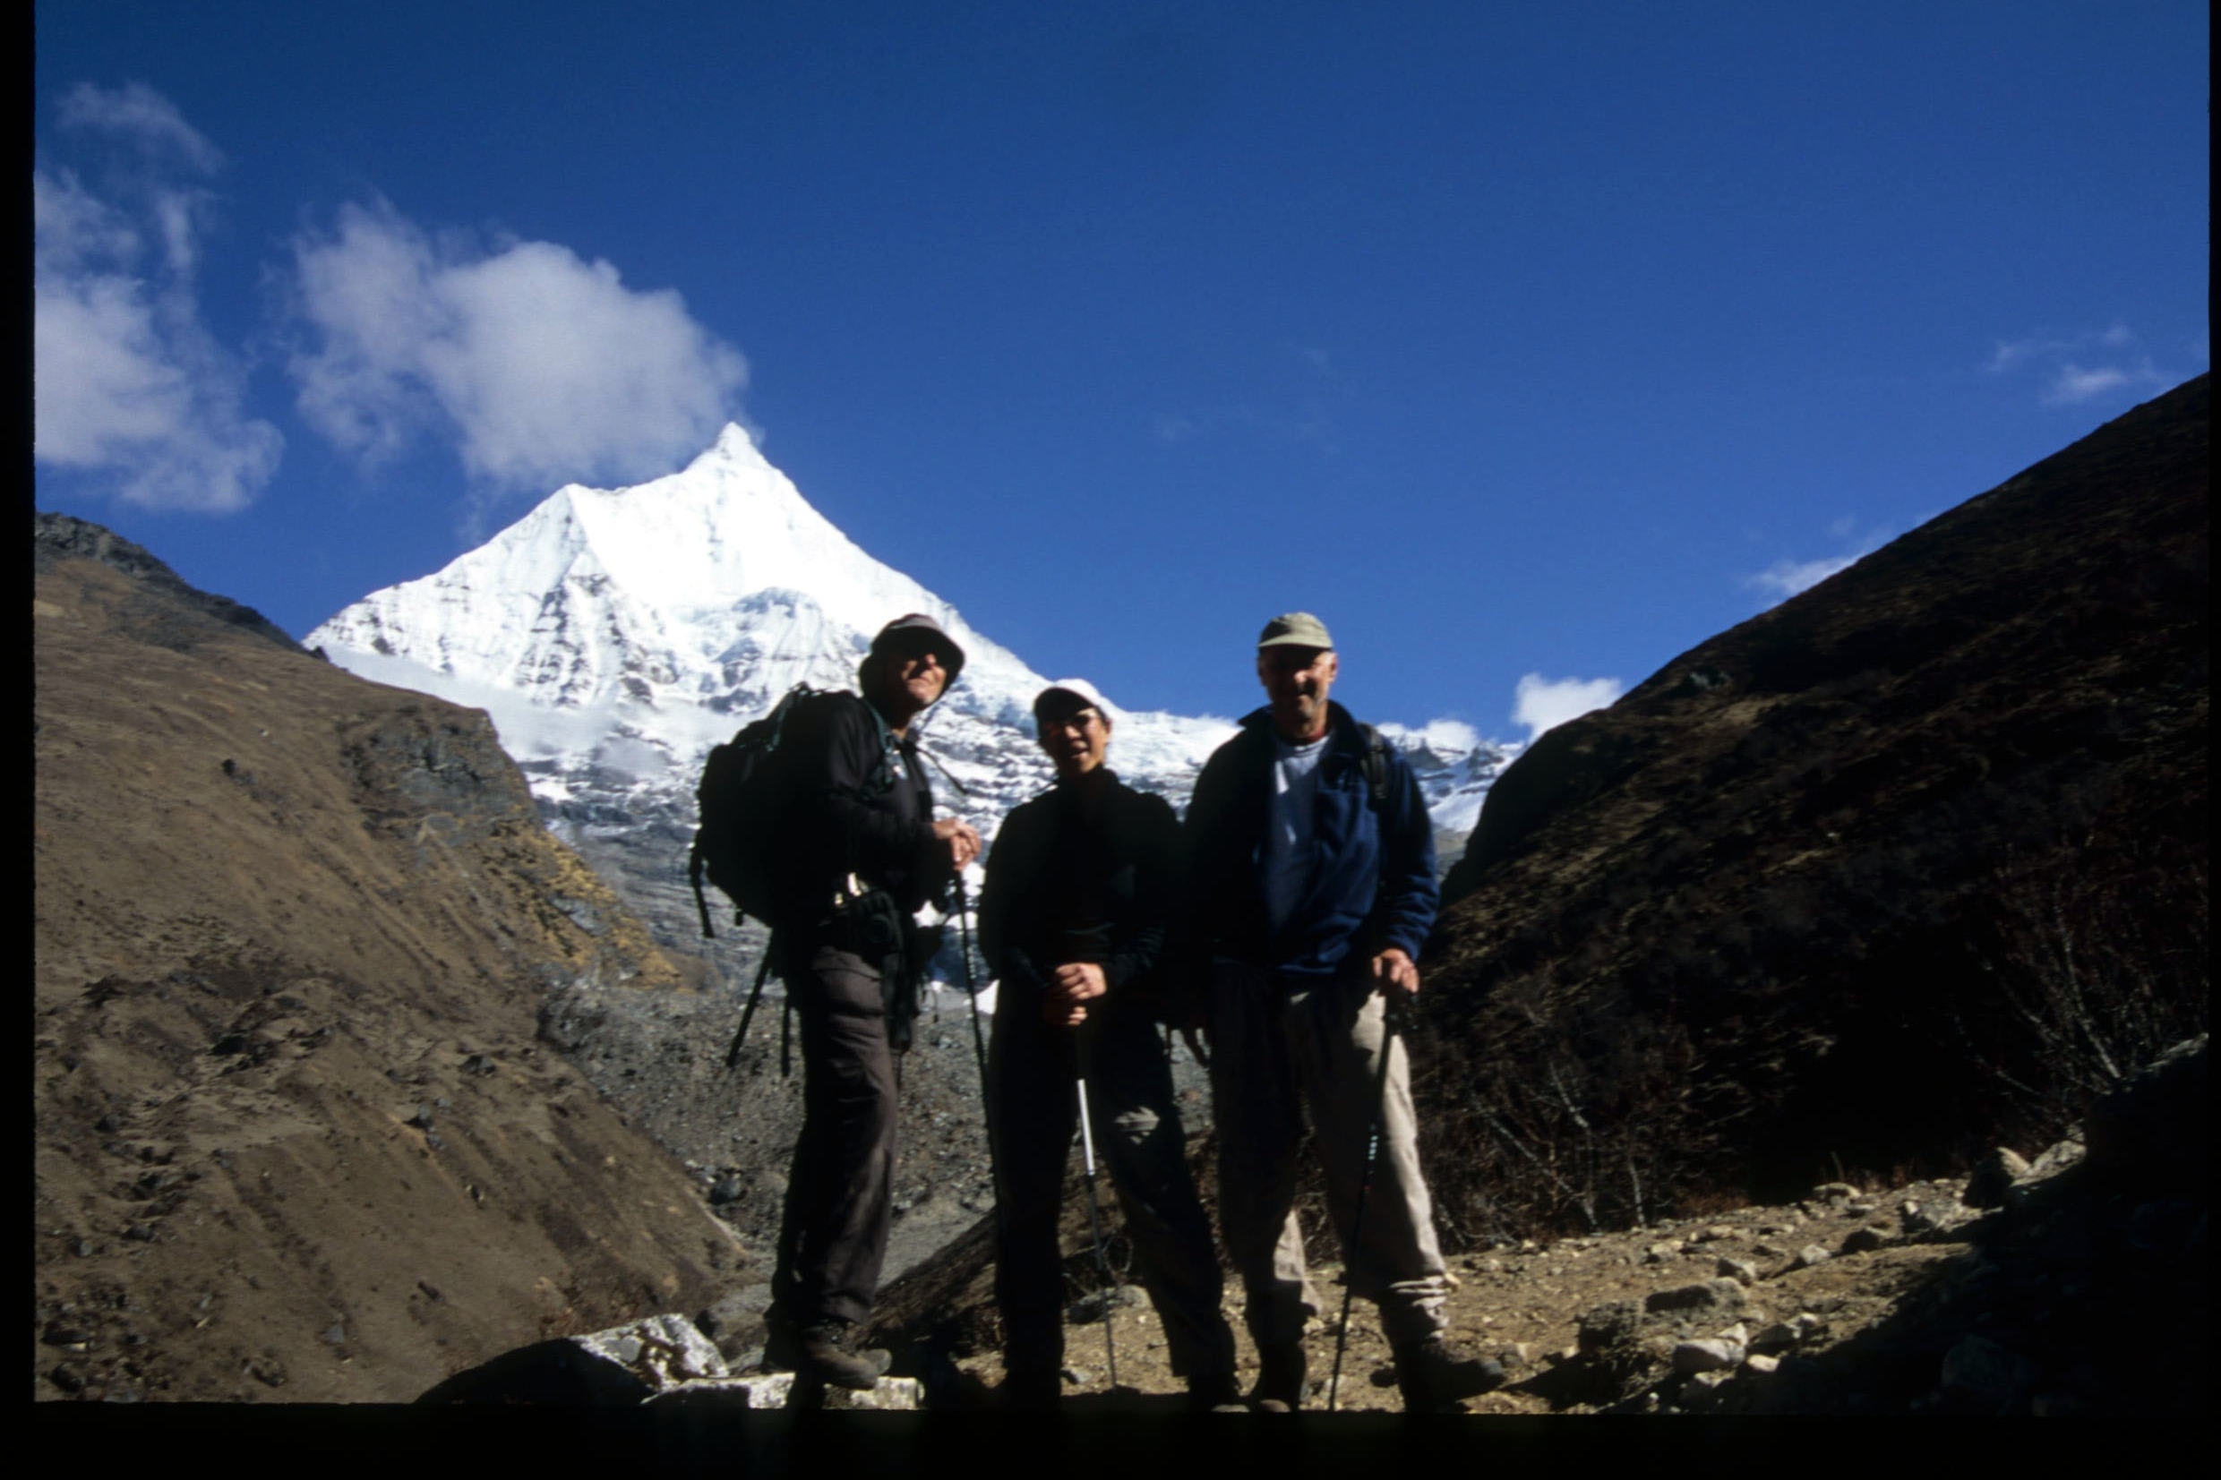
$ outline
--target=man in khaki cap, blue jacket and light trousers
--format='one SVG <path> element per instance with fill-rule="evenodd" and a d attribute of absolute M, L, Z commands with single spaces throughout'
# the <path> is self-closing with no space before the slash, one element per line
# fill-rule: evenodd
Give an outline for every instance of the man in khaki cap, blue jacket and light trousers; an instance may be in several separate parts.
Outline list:
<path fill-rule="evenodd" d="M 1266 624 L 1266 706 L 1210 757 L 1188 805 L 1179 956 L 1204 983 L 1219 1225 L 1248 1291 L 1257 1405 L 1302 1405 L 1304 1322 L 1319 1314 L 1295 1218 L 1308 1105 L 1350 1285 L 1379 1305 L 1404 1407 L 1441 1411 L 1501 1369 L 1441 1338 L 1450 1280 L 1419 1174 L 1408 1061 L 1386 1030 L 1388 994 L 1419 992 L 1439 901 L 1435 832 L 1410 766 L 1328 699 L 1337 672 L 1317 617 Z M 1375 1116 L 1379 1156 L 1350 1247 Z"/>

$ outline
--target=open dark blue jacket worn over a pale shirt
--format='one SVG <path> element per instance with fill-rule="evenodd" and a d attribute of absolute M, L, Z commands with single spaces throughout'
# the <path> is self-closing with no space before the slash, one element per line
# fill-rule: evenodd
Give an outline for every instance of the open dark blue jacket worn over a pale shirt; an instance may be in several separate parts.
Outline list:
<path fill-rule="evenodd" d="M 1310 881 L 1275 936 L 1266 923 L 1264 837 L 1273 801 L 1273 712 L 1242 721 L 1195 781 L 1182 830 L 1188 859 L 1188 914 L 1179 930 L 1182 965 L 1233 956 L 1302 976 L 1341 970 L 1350 952 L 1401 947 L 1413 961 L 1435 925 L 1435 823 L 1419 777 L 1388 748 L 1388 794 L 1379 810 L 1366 794 L 1366 737 L 1339 703 L 1328 703 L 1328 746 L 1319 757 Z"/>

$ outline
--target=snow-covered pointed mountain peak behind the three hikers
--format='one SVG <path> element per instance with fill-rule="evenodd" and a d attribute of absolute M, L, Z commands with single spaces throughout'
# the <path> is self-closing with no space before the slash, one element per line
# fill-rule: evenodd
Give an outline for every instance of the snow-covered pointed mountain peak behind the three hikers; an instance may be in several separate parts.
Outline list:
<path fill-rule="evenodd" d="M 1031 712 L 1046 679 L 864 553 L 740 426 L 666 477 L 566 484 L 306 641 L 362 677 L 489 710 L 557 828 L 684 839 L 708 748 L 795 683 L 853 688 L 871 635 L 904 612 L 931 615 L 964 646 L 964 677 L 922 739 L 968 792 L 939 788 L 944 803 L 993 832 L 1048 785 Z M 1233 721 L 1106 699 L 1119 774 L 1186 805 Z M 1437 825 L 1468 830 L 1508 748 L 1455 721 L 1381 732 L 1419 766 Z"/>

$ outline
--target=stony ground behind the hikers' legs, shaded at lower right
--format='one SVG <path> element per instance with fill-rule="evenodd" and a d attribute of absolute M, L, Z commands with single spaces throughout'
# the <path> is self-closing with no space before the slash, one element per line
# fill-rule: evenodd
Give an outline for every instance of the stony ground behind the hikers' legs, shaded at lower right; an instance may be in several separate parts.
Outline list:
<path fill-rule="evenodd" d="M 2185 1041 L 2032 1158 L 1972 1178 L 1810 1187 L 1637 1229 L 1488 1240 L 1453 1258 L 1450 1336 L 1506 1382 L 1470 1413 L 2192 1416 L 2208 1405 L 2208 1047 Z M 1202 1147 L 1197 1147 L 1202 1149 Z M 1115 1203 L 1110 1249 L 1119 1256 Z M 1315 1254 L 1330 1238 L 1315 1238 Z M 1066 1196 L 1066 1407 L 1173 1413 L 1182 1382 L 1142 1291 L 1106 1340 L 1084 1194 Z M 1339 1265 L 1315 1258 L 1326 1407 Z M 1002 1369 L 988 1229 L 895 1283 L 880 1336 L 933 1407 L 993 1407 Z M 1255 1354 L 1228 1291 L 1244 1382 Z M 1350 1314 L 1337 1407 L 1397 1411 L 1368 1305 Z M 1119 1387 L 1108 1382 L 1110 1347 Z"/>

